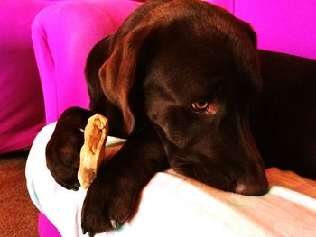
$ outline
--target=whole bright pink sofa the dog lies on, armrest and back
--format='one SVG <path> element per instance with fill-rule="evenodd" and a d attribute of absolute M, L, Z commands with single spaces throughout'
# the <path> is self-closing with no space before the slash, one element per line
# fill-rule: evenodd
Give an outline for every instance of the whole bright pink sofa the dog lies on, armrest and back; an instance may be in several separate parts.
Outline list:
<path fill-rule="evenodd" d="M 209 2 L 251 23 L 259 48 L 316 59 L 313 0 Z M 70 106 L 88 107 L 83 72 L 88 51 L 115 32 L 137 5 L 128 0 L 70 1 L 51 5 L 36 16 L 33 47 L 41 75 L 46 123 L 56 121 Z M 40 236 L 58 236 L 44 215 L 39 220 Z"/>

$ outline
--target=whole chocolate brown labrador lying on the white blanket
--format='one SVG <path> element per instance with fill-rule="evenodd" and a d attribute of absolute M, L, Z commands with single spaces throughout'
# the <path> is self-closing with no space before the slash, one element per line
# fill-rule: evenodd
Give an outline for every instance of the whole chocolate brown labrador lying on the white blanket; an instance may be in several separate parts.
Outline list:
<path fill-rule="evenodd" d="M 195 0 L 139 7 L 88 56 L 90 110 L 61 115 L 46 149 L 55 180 L 78 189 L 82 129 L 92 114 L 127 138 L 88 188 L 82 229 L 130 220 L 143 188 L 172 168 L 222 190 L 260 196 L 265 166 L 316 178 L 316 66 L 256 50 L 256 34 Z"/>

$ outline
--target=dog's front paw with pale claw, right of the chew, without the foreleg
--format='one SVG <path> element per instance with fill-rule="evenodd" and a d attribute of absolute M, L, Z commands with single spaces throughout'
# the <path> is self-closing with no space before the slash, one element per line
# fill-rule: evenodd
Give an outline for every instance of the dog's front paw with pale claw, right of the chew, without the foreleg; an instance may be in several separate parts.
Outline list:
<path fill-rule="evenodd" d="M 117 229 L 131 220 L 136 213 L 141 189 L 132 178 L 116 175 L 107 170 L 88 188 L 82 207 L 82 232 L 93 236 L 98 232 Z"/>

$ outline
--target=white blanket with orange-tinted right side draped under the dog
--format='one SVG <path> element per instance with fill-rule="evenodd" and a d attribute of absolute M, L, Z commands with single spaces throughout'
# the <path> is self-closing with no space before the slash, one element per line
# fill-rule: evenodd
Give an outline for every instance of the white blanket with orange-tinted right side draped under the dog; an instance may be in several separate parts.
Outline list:
<path fill-rule="evenodd" d="M 62 236 L 83 236 L 85 191 L 60 187 L 46 168 L 45 146 L 54 127 L 44 127 L 33 142 L 27 187 L 34 205 Z M 279 169 L 267 169 L 266 174 L 271 189 L 255 197 L 223 192 L 170 170 L 158 173 L 144 188 L 133 221 L 97 236 L 316 236 L 316 182 Z"/>

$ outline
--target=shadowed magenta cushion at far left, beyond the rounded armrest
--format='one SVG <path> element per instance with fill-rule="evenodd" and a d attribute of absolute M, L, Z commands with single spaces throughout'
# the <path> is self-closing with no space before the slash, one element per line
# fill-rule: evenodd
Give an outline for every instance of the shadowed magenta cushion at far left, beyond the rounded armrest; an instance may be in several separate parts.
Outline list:
<path fill-rule="evenodd" d="M 31 23 L 52 2 L 0 1 L 0 154 L 31 146 L 45 123 Z"/>

